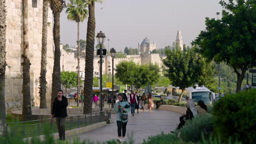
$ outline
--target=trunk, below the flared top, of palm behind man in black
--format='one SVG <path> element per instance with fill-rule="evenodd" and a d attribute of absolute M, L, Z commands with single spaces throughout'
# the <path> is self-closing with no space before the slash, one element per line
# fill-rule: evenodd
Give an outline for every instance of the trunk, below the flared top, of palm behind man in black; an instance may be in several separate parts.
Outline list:
<path fill-rule="evenodd" d="M 53 109 L 53 101 L 58 91 L 61 89 L 61 72 L 60 72 L 60 13 L 61 11 L 53 11 L 54 13 L 54 69 L 53 83 L 51 90 L 51 109 Z"/>

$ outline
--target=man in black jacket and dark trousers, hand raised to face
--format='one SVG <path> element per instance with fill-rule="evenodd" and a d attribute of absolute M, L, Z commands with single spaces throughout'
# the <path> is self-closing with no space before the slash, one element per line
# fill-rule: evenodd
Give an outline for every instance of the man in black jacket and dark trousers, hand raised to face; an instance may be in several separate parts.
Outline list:
<path fill-rule="evenodd" d="M 57 97 L 54 99 L 53 111 L 51 118 L 56 117 L 57 128 L 60 140 L 65 141 L 65 122 L 67 117 L 67 98 L 63 96 L 63 91 L 59 90 Z"/>

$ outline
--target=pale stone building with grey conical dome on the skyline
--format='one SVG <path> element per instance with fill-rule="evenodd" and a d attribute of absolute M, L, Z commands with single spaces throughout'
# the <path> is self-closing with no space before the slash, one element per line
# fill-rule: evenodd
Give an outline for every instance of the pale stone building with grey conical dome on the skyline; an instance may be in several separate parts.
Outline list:
<path fill-rule="evenodd" d="M 148 37 L 146 37 L 142 43 L 138 43 L 138 51 L 139 53 L 150 53 L 154 49 L 156 49 L 155 42 L 152 43 Z"/>

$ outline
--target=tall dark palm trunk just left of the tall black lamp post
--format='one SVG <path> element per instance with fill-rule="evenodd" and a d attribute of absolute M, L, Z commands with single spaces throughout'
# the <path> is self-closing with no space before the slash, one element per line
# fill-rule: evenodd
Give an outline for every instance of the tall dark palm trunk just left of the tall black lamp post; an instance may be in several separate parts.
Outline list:
<path fill-rule="evenodd" d="M 89 17 L 86 33 L 84 113 L 92 112 L 92 84 L 94 73 L 95 2 L 89 3 Z M 101 95 L 100 95 L 101 96 Z"/>

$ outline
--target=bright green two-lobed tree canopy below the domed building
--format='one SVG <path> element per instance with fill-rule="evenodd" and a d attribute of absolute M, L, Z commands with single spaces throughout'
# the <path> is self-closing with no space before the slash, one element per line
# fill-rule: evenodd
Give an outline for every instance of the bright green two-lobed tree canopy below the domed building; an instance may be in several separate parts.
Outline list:
<path fill-rule="evenodd" d="M 142 86 L 152 85 L 159 79 L 159 67 L 157 64 L 139 65 L 132 61 L 120 62 L 115 71 L 115 76 L 124 85 L 133 85 L 136 89 Z"/>

